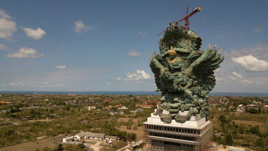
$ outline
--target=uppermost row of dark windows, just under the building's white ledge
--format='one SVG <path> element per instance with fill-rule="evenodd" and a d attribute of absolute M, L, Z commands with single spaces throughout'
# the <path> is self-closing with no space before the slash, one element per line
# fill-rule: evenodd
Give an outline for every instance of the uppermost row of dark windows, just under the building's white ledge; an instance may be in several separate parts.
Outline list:
<path fill-rule="evenodd" d="M 186 130 L 186 129 L 180 129 L 180 128 L 170 128 L 170 127 L 146 125 L 146 129 L 159 130 L 159 131 L 165 131 L 165 132 L 179 132 L 179 133 L 188 133 L 188 134 L 198 134 L 198 135 L 200 135 L 200 131 Z"/>

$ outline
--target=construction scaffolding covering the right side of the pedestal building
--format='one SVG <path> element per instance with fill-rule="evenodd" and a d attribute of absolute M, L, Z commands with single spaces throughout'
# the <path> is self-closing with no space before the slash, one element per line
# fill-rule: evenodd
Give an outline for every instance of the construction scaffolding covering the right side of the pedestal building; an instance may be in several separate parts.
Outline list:
<path fill-rule="evenodd" d="M 213 125 L 210 123 L 195 136 L 195 151 L 207 151 L 213 142 Z"/>

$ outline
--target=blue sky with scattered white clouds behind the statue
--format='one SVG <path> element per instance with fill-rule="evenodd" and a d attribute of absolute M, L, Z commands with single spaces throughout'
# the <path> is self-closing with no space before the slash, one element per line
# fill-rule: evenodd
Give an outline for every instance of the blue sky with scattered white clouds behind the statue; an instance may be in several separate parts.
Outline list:
<path fill-rule="evenodd" d="M 223 48 L 213 91 L 267 92 L 268 1 L 0 1 L 0 91 L 154 91 L 148 57 L 187 6 L 200 50 Z"/>

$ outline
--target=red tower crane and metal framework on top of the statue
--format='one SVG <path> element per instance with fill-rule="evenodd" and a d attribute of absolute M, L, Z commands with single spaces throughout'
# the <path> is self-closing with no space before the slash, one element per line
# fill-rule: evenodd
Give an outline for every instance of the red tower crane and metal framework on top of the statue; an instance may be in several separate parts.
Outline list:
<path fill-rule="evenodd" d="M 179 24 L 179 22 L 181 22 L 181 21 L 183 21 L 183 20 L 185 20 L 185 22 L 184 22 L 185 29 L 186 29 L 186 30 L 189 30 L 189 23 L 190 23 L 190 22 L 189 22 L 189 17 L 193 16 L 193 15 L 194 15 L 195 13 L 197 13 L 197 12 L 200 12 L 201 7 L 200 7 L 200 6 L 197 6 L 195 9 L 193 9 L 193 11 L 192 11 L 189 15 L 188 15 L 188 8 L 189 8 L 189 7 L 187 7 L 187 11 L 186 11 L 186 15 L 185 15 L 185 17 L 183 17 L 183 18 L 182 18 L 181 20 L 179 20 L 179 21 L 170 22 L 168 28 L 166 28 L 164 31 L 162 31 L 161 33 L 159 33 L 158 36 L 161 35 L 162 33 L 164 33 L 164 32 L 167 31 L 167 30 L 184 28 L 183 26 L 181 26 L 181 25 Z"/>

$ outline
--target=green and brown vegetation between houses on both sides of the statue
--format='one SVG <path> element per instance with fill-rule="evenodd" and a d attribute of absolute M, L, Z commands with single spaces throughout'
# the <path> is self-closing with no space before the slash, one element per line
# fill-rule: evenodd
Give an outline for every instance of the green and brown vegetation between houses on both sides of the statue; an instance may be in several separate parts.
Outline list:
<path fill-rule="evenodd" d="M 106 97 L 113 101 L 105 101 L 103 98 Z M 134 95 L 35 96 L 4 94 L 0 97 L 1 100 L 10 103 L 0 104 L 0 111 L 6 110 L 6 112 L 1 112 L 0 114 L 0 123 L 12 122 L 17 125 L 5 124 L 0 126 L 0 148 L 32 141 L 42 136 L 73 135 L 80 130 L 118 136 L 123 141 L 135 141 L 137 139 L 136 133 L 138 133 L 136 129 L 142 126 L 142 123 L 154 112 L 154 109 L 144 109 L 143 112 L 137 112 L 136 114 L 131 113 L 131 111 L 140 108 L 136 107 L 135 104 L 142 104 L 143 101 L 148 101 L 147 97 L 157 102 L 160 96 L 144 95 L 140 96 L 140 98 L 135 97 Z M 97 100 L 96 98 L 100 99 Z M 214 130 L 224 134 L 224 137 L 214 135 L 214 141 L 222 145 L 245 146 L 255 150 L 267 150 L 268 110 L 265 108 L 247 108 L 243 113 L 235 112 L 235 109 L 228 110 L 230 105 L 233 105 L 235 108 L 240 104 L 253 104 L 253 101 L 261 102 L 261 104 L 259 103 L 260 105 L 267 105 L 267 101 L 264 102 L 263 98 L 256 97 L 237 98 L 231 96 L 226 97 L 226 99 L 217 97 L 212 99 L 214 100 L 210 101 L 210 103 L 218 103 L 219 106 L 210 106 L 209 119 L 213 122 Z M 222 100 L 224 103 L 220 103 L 219 100 Z M 68 101 L 71 103 L 64 103 Z M 114 107 L 120 104 L 128 109 L 120 110 L 117 109 L 118 107 Z M 110 105 L 113 106 L 110 110 L 103 109 Z M 155 105 L 155 103 L 152 105 Z M 36 106 L 38 107 L 34 108 Z M 88 110 L 88 106 L 95 106 L 96 109 Z M 223 107 L 226 110 L 218 111 L 219 107 Z M 110 112 L 117 110 L 118 112 L 124 112 L 124 114 L 110 114 Z M 56 114 L 56 116 L 51 114 Z M 7 120 L 9 117 L 13 119 Z M 51 118 L 51 120 L 46 120 L 46 118 Z M 126 132 L 127 130 L 122 131 L 122 127 L 130 132 Z M 133 133 L 135 131 L 137 132 Z M 124 146 L 125 142 L 114 144 L 113 147 L 116 148 L 119 145 Z M 44 149 L 60 150 L 63 147 L 57 146 L 54 149 Z M 84 149 L 80 148 L 79 145 L 69 145 L 64 148 L 64 150 Z"/>

